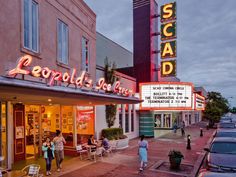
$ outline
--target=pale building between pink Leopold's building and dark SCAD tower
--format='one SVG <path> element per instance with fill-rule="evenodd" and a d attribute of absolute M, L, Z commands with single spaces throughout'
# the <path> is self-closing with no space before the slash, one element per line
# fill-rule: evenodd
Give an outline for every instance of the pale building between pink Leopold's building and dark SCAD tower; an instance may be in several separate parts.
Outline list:
<path fill-rule="evenodd" d="M 97 32 L 97 78 L 104 77 L 105 59 L 110 63 L 115 63 L 116 68 L 133 66 L 133 54 L 119 44 Z M 136 79 L 118 71 L 115 72 L 122 86 L 136 90 Z M 101 130 L 107 127 L 105 106 L 96 106 L 96 126 L 95 132 L 100 137 Z M 123 132 L 128 138 L 135 138 L 139 135 L 139 119 L 134 104 L 118 104 L 115 124 L 113 127 L 123 128 Z"/>

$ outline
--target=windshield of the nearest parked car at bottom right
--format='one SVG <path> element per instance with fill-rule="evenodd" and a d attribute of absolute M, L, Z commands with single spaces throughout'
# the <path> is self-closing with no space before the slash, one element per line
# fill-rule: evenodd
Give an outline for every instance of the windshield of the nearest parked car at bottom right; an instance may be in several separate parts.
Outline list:
<path fill-rule="evenodd" d="M 211 145 L 210 152 L 220 154 L 235 154 L 236 155 L 236 142 L 214 142 Z"/>

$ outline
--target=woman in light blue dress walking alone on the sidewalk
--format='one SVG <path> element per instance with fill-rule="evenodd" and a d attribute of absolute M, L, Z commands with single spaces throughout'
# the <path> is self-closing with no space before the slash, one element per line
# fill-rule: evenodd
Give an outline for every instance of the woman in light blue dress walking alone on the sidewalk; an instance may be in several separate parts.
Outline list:
<path fill-rule="evenodd" d="M 141 139 L 138 142 L 139 150 L 139 160 L 140 160 L 140 171 L 143 171 L 143 168 L 147 166 L 147 150 L 148 150 L 148 142 L 144 140 L 144 135 L 141 135 Z"/>

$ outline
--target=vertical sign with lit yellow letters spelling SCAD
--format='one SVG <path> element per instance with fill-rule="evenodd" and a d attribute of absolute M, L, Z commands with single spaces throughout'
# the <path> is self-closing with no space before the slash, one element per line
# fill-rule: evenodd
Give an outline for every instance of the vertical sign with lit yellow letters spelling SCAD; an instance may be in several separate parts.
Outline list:
<path fill-rule="evenodd" d="M 173 2 L 161 6 L 161 77 L 176 76 L 176 38 L 176 2 Z"/>

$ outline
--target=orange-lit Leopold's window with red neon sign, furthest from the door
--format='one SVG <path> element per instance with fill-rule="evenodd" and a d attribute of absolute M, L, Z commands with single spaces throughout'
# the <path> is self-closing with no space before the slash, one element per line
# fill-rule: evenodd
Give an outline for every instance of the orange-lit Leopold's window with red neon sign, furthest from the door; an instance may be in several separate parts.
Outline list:
<path fill-rule="evenodd" d="M 76 107 L 77 143 L 86 143 L 89 135 L 94 135 L 94 107 Z"/>

